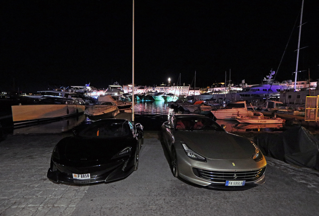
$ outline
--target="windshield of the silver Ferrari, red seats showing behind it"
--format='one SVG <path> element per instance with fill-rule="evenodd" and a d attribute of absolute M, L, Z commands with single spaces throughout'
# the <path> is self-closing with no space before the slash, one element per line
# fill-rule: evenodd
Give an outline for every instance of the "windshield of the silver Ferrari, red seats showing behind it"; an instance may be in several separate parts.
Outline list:
<path fill-rule="evenodd" d="M 176 119 L 176 130 L 215 130 L 223 131 L 213 119 L 209 117 L 181 116 Z"/>

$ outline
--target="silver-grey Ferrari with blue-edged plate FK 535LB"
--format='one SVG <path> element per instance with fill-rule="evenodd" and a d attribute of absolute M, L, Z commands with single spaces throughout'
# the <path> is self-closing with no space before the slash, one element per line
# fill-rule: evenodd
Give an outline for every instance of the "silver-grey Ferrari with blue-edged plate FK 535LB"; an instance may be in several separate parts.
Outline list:
<path fill-rule="evenodd" d="M 222 126 L 199 114 L 174 114 L 164 122 L 161 139 L 171 156 L 173 175 L 223 189 L 263 184 L 267 163 L 259 148 Z"/>

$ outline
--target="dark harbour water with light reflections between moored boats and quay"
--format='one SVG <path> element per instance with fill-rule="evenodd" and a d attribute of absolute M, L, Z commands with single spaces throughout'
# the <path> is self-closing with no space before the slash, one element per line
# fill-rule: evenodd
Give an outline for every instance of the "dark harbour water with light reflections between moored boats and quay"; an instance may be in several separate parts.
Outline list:
<path fill-rule="evenodd" d="M 176 113 L 164 101 L 140 101 L 134 106 L 134 121 L 140 122 L 144 130 L 160 130 L 163 122 Z M 289 128 L 288 124 L 242 124 L 236 120 L 216 120 L 219 124 L 225 124 L 229 132 L 272 132 L 283 131 Z M 20 128 L 14 128 L 12 117 L 10 115 L 0 116 L 0 138 L 6 134 L 30 134 L 30 133 L 60 133 L 70 132 L 73 128 L 83 124 L 89 124 L 91 121 L 83 114 L 77 117 L 63 119 L 54 122 L 29 125 Z M 310 131 L 314 128 L 308 128 Z"/>

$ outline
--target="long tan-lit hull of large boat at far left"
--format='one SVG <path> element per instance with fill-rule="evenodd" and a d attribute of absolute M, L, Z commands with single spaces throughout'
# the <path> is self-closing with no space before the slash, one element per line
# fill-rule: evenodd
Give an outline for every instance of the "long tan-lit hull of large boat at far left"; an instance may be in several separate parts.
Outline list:
<path fill-rule="evenodd" d="M 84 112 L 85 105 L 77 104 L 34 104 L 13 105 L 12 119 L 14 125 L 22 125 L 39 121 L 50 121 L 71 117 Z"/>

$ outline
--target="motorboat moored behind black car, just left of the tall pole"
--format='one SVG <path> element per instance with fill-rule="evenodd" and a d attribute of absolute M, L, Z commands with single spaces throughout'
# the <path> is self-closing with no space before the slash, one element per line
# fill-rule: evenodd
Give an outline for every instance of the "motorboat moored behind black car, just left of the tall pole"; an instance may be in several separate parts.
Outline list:
<path fill-rule="evenodd" d="M 91 120 L 102 118 L 112 118 L 119 113 L 119 109 L 115 102 L 98 101 L 96 104 L 87 107 L 84 114 Z"/>

